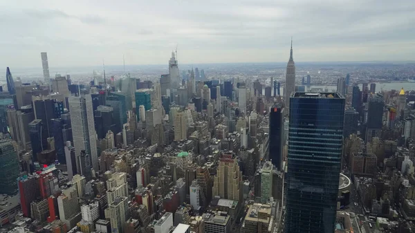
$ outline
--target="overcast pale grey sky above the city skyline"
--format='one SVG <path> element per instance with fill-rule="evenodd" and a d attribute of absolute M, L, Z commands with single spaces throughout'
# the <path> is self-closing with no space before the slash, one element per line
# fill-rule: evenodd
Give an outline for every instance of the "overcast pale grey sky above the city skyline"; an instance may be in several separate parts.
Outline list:
<path fill-rule="evenodd" d="M 414 0 L 15 0 L 0 27 L 0 66 L 415 60 Z"/>

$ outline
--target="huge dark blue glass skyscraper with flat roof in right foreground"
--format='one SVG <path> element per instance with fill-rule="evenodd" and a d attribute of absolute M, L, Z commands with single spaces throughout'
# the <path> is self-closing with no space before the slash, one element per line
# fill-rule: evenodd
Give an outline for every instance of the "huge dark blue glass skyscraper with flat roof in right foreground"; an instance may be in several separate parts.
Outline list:
<path fill-rule="evenodd" d="M 289 115 L 285 232 L 333 233 L 344 97 L 338 93 L 295 93 Z"/>

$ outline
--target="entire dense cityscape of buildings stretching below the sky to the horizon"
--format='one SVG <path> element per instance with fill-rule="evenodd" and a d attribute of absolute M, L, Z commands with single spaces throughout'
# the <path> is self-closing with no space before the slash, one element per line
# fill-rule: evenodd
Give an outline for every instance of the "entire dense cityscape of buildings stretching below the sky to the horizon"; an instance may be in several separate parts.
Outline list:
<path fill-rule="evenodd" d="M 163 73 L 50 77 L 41 57 L 39 80 L 6 68 L 0 86 L 0 217 L 12 233 L 410 232 L 411 64 L 305 64 L 296 84 L 292 41 L 285 73 L 179 70 L 176 51 Z"/>

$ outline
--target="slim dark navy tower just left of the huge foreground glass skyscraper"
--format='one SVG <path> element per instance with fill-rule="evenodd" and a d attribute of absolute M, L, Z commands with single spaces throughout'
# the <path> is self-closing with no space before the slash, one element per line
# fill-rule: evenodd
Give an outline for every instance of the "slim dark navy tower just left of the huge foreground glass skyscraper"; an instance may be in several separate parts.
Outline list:
<path fill-rule="evenodd" d="M 278 170 L 282 169 L 282 147 L 284 131 L 284 109 L 282 104 L 275 104 L 270 111 L 270 160 Z"/>

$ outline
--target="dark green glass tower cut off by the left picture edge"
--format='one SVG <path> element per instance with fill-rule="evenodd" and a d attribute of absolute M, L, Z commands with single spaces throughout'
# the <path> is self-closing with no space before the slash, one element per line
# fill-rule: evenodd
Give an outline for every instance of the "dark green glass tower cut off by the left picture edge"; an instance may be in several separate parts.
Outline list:
<path fill-rule="evenodd" d="M 11 140 L 0 140 L 0 187 L 3 194 L 17 192 L 16 179 L 19 177 L 19 157 Z"/>

